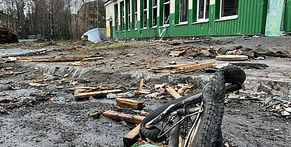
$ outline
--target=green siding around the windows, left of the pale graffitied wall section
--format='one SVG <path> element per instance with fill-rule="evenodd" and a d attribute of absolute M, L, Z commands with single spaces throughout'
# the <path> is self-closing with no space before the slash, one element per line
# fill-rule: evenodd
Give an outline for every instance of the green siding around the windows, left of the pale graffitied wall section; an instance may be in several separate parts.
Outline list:
<path fill-rule="evenodd" d="M 163 2 L 163 0 L 160 1 L 161 8 L 163 8 Z M 170 23 L 170 26 L 166 28 L 163 36 L 261 35 L 265 32 L 267 0 L 240 0 L 238 3 L 237 19 L 215 21 L 219 16 L 219 5 L 220 0 L 216 0 L 215 5 L 209 6 L 209 22 L 192 24 L 191 22 L 195 22 L 195 19 L 197 19 L 197 4 L 193 4 L 195 7 L 188 11 L 188 24 L 175 25 Z M 121 31 L 116 34 L 116 37 L 161 37 L 161 32 L 164 29 L 160 27 L 163 25 L 163 18 L 161 17 L 162 9 L 159 12 L 160 17 L 157 18 L 157 28 L 146 28 L 142 30 L 138 28 L 137 31 Z M 170 14 L 170 22 L 177 20 L 175 19 L 177 17 L 176 15 L 175 13 Z M 138 26 L 141 26 L 140 21 Z"/>

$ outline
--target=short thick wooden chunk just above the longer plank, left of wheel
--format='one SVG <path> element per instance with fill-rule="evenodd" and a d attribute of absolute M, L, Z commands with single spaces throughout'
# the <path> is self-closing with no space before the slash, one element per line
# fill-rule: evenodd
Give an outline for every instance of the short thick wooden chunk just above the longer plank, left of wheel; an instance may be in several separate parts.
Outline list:
<path fill-rule="evenodd" d="M 142 110 L 144 107 L 142 101 L 135 101 L 129 98 L 115 98 L 115 101 L 119 107 L 132 107 L 137 110 Z"/>

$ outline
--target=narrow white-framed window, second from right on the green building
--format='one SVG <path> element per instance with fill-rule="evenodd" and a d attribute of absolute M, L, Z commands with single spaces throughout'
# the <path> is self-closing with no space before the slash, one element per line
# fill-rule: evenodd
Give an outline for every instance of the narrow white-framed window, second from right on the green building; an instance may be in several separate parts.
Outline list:
<path fill-rule="evenodd" d="M 209 19 L 209 0 L 197 1 L 197 21 L 205 21 Z"/>

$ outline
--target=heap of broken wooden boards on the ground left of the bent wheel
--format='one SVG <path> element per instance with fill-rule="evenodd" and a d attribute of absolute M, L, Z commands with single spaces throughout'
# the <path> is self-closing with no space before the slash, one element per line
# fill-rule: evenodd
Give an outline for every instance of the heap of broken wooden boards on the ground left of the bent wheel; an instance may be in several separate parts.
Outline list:
<path fill-rule="evenodd" d="M 133 89 L 132 85 L 136 87 L 136 90 Z M 181 98 L 183 95 L 196 92 L 197 89 L 188 83 L 177 84 L 175 86 L 163 84 L 153 84 L 146 83 L 145 79 L 141 79 L 139 83 L 130 83 L 130 87 L 128 89 L 134 90 L 133 95 L 129 95 L 129 92 L 122 93 L 121 89 L 114 89 L 110 87 L 76 87 L 75 98 L 76 99 L 87 99 L 90 96 L 93 98 L 114 98 L 115 97 L 116 110 L 103 110 L 103 112 L 91 112 L 89 116 L 94 119 L 100 118 L 100 116 L 106 116 L 110 119 L 114 119 L 116 121 L 124 121 L 127 123 L 134 123 L 136 127 L 130 131 L 127 135 L 123 137 L 123 145 L 124 146 L 132 146 L 133 144 L 141 144 L 141 135 L 140 135 L 140 123 L 145 119 L 149 113 L 145 107 L 145 103 L 143 101 L 138 101 L 136 99 L 140 97 L 144 98 L 166 98 L 166 101 L 173 101 L 174 99 Z M 127 89 L 127 88 L 125 88 Z M 101 94 L 101 95 L 100 95 Z M 118 95 L 119 94 L 119 95 Z M 118 97 L 118 96 L 129 96 L 128 98 Z M 130 111 L 131 110 L 131 111 Z M 129 112 L 130 111 L 130 112 Z M 140 140 L 140 141 L 139 141 Z M 143 144 L 146 144 L 146 141 L 143 141 Z"/>

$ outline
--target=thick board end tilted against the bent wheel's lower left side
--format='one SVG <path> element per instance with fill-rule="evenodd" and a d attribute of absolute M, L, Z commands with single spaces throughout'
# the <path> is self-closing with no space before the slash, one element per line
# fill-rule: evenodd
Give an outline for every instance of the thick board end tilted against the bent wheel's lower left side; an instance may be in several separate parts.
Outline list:
<path fill-rule="evenodd" d="M 139 132 L 141 130 L 141 124 L 136 126 L 133 130 L 127 133 L 123 137 L 123 146 L 130 147 L 136 143 L 136 141 L 139 139 Z"/>

